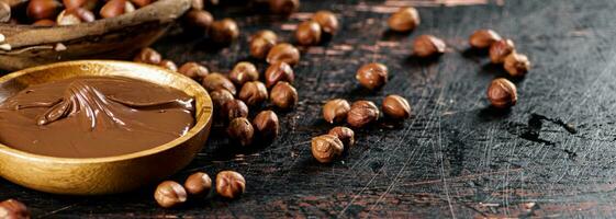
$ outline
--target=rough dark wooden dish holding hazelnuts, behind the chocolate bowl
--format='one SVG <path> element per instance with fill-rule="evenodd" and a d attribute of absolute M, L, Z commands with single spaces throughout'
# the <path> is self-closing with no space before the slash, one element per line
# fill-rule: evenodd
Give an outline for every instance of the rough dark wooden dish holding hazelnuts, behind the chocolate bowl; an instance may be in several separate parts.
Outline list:
<path fill-rule="evenodd" d="M 158 0 L 113 19 L 69 26 L 0 24 L 0 69 L 20 70 L 59 60 L 128 59 L 152 45 L 191 0 Z M 7 49 L 10 47 L 10 49 Z"/>

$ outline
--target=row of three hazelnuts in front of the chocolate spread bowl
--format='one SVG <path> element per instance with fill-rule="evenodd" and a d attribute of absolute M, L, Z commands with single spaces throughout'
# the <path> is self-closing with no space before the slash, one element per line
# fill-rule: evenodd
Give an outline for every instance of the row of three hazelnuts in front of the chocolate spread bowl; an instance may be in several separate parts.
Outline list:
<path fill-rule="evenodd" d="M 221 197 L 237 198 L 246 189 L 246 180 L 235 171 L 221 171 L 216 174 L 215 189 L 212 189 L 212 178 L 203 172 L 195 172 L 188 176 L 183 185 L 173 181 L 160 183 L 154 192 L 154 199 L 160 207 L 171 208 L 188 201 L 189 197 L 205 198 L 215 191 Z"/>

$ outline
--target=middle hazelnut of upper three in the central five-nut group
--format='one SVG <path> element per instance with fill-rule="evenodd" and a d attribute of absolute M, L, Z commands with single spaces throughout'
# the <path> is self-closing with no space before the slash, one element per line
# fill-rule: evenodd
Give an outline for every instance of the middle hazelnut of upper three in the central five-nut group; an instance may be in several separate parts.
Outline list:
<path fill-rule="evenodd" d="M 361 128 L 379 119 L 379 108 L 371 101 L 356 101 L 350 105 L 347 123 L 354 128 Z"/>

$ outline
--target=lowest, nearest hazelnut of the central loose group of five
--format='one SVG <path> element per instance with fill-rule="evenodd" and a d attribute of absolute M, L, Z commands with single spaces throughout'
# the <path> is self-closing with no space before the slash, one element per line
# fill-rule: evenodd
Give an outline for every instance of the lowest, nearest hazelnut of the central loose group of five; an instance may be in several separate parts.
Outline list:
<path fill-rule="evenodd" d="M 345 146 L 336 136 L 323 135 L 312 138 L 312 155 L 321 163 L 329 163 L 340 154 Z"/>

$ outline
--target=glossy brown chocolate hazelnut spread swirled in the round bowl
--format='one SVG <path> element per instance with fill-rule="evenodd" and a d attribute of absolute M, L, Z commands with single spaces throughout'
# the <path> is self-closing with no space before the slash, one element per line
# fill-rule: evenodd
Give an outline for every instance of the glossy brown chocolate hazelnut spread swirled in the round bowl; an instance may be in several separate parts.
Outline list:
<path fill-rule="evenodd" d="M 0 104 L 0 142 L 35 154 L 102 158 L 152 149 L 194 125 L 182 91 L 123 77 L 31 85 Z"/>

